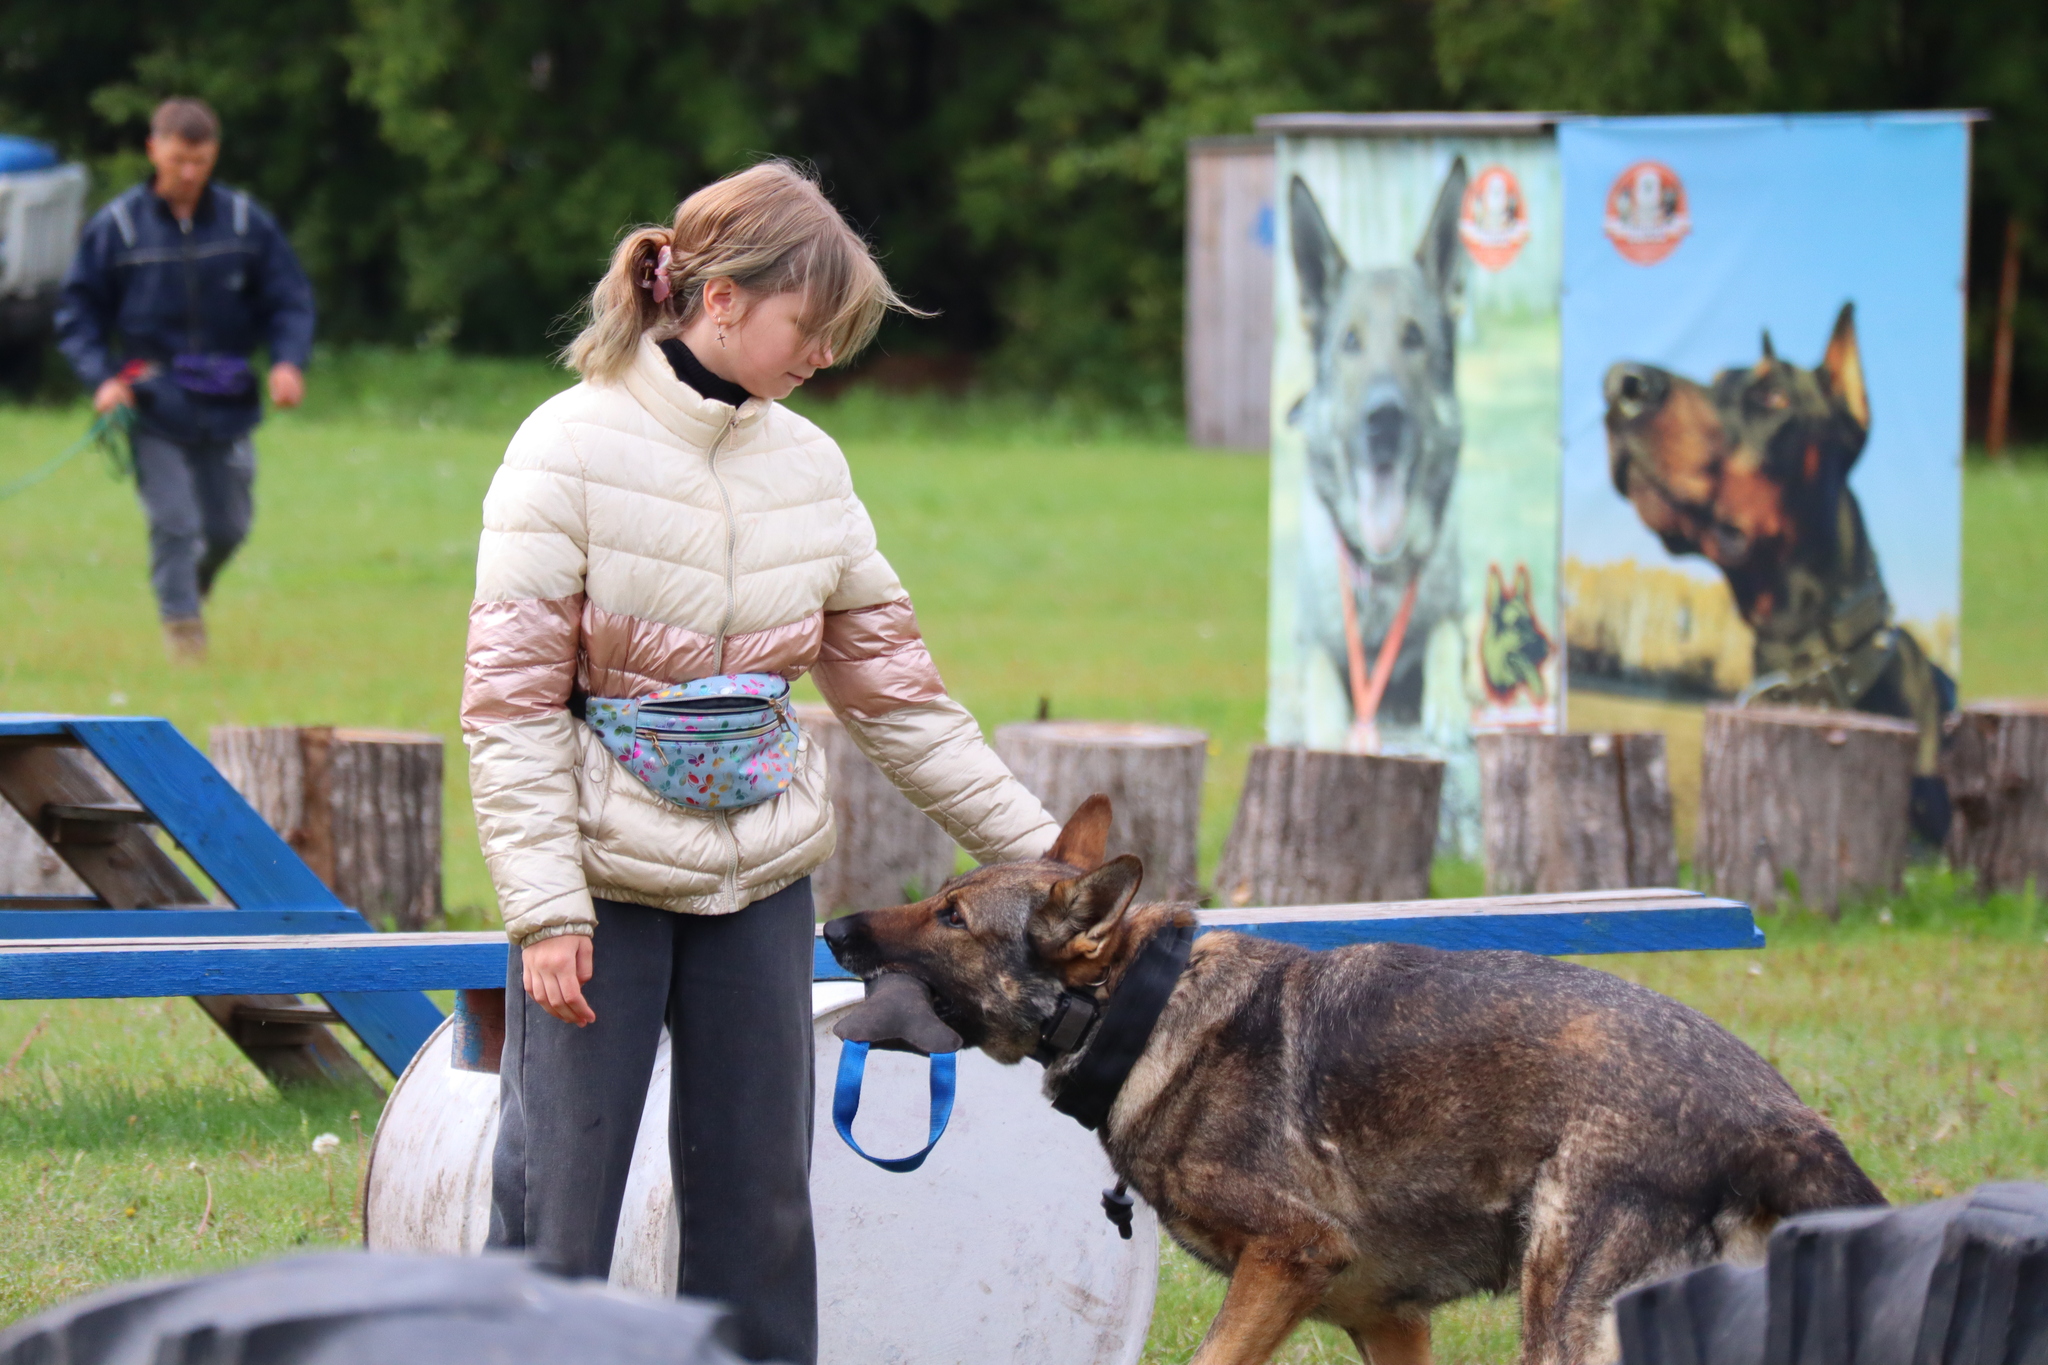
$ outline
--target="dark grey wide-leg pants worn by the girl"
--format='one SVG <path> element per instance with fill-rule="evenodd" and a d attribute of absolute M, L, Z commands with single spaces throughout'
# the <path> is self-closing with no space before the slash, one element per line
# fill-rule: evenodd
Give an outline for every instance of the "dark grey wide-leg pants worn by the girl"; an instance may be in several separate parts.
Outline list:
<path fill-rule="evenodd" d="M 489 1244 L 610 1273 L 666 1019 L 676 1293 L 731 1306 L 748 1359 L 815 1365 L 811 880 L 737 915 L 596 905 L 590 1027 L 526 999 L 510 956 Z"/>

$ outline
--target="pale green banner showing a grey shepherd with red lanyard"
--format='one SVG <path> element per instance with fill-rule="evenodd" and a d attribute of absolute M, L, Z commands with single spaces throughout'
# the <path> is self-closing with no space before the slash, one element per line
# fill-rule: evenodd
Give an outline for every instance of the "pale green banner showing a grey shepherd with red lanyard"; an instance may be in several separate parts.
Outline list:
<path fill-rule="evenodd" d="M 1550 137 L 1276 145 L 1268 741 L 1448 763 L 1554 729 L 1561 176 Z"/>

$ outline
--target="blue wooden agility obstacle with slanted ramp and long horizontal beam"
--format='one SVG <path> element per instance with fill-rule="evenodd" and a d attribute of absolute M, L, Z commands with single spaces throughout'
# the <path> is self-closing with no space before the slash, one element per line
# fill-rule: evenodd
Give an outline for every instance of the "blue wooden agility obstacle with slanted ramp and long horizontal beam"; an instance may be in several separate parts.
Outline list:
<path fill-rule="evenodd" d="M 133 800 L 109 790 L 84 753 Z M 328 1021 L 346 1023 L 401 1074 L 442 1021 L 424 990 L 463 990 L 467 1011 L 502 1019 L 502 995 L 487 995 L 504 990 L 502 933 L 377 933 L 168 720 L 0 714 L 0 796 L 92 888 L 0 896 L 0 999 L 199 997 L 279 1078 L 352 1066 L 324 1029 L 309 1027 Z M 209 902 L 152 825 L 227 907 Z M 1210 929 L 1305 948 L 1421 943 L 1548 956 L 1763 948 L 1749 907 L 1669 888 L 1202 911 L 1198 931 Z M 823 941 L 815 978 L 850 980 Z M 326 1009 L 297 995 L 319 995 Z M 483 1021 L 485 1036 L 496 1027 Z"/>

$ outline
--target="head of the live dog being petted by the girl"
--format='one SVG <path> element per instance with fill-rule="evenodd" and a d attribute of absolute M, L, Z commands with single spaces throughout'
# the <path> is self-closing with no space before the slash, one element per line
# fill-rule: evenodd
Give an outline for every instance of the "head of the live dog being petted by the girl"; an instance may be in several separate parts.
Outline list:
<path fill-rule="evenodd" d="M 1044 857 L 977 868 L 915 905 L 827 921 L 825 943 L 862 980 L 913 976 L 969 1048 L 1020 1062 L 1069 986 L 1114 982 L 1143 945 L 1128 913 L 1143 866 L 1128 853 L 1104 862 L 1108 833 L 1110 800 L 1090 796 Z"/>

